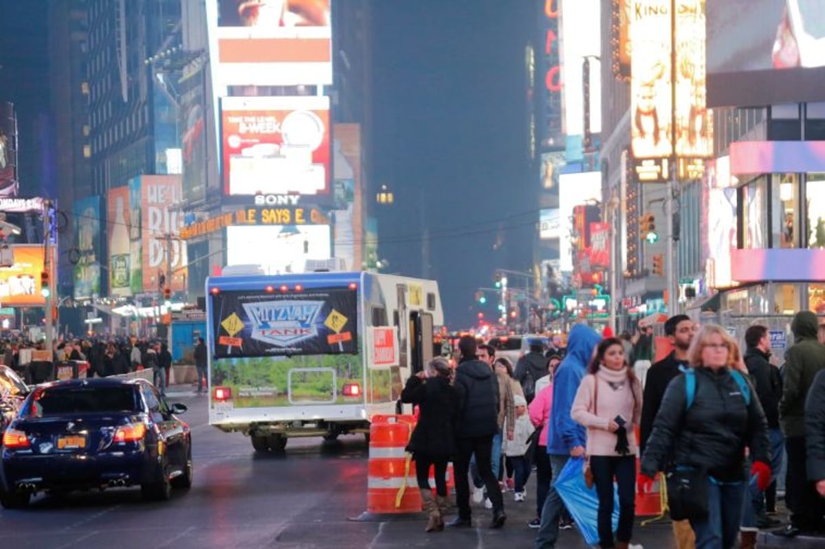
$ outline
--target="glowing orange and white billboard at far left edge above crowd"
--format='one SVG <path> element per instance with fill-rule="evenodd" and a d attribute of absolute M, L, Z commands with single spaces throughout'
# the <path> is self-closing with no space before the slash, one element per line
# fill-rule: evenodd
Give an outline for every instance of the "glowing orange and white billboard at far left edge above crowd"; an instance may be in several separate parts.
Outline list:
<path fill-rule="evenodd" d="M 45 305 L 40 295 L 43 246 L 12 246 L 14 265 L 0 268 L 0 303 L 3 307 Z"/>

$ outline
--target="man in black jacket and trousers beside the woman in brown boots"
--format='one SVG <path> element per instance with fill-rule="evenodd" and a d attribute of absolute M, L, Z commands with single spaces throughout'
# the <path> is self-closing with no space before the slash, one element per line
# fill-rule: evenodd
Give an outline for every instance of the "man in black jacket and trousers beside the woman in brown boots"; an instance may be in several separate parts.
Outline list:
<path fill-rule="evenodd" d="M 448 526 L 471 527 L 469 507 L 469 460 L 475 453 L 479 474 L 484 479 L 487 495 L 493 503 L 490 528 L 501 528 L 507 515 L 498 481 L 493 476 L 490 455 L 493 435 L 498 433 L 498 381 L 490 365 L 476 358 L 473 336 L 459 340 L 461 359 L 455 368 L 455 391 L 459 398 L 458 429 L 455 456 L 455 504 L 459 515 Z"/>

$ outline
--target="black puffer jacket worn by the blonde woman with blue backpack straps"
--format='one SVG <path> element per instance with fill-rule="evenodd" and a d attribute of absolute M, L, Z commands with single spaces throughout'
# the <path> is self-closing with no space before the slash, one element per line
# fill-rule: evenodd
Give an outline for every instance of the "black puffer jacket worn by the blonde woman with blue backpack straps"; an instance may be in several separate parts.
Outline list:
<path fill-rule="evenodd" d="M 728 368 L 714 372 L 694 368 L 696 392 L 686 411 L 685 375 L 667 386 L 642 456 L 642 472 L 653 476 L 669 469 L 668 456 L 679 466 L 698 467 L 718 481 L 747 479 L 745 447 L 752 457 L 770 463 L 767 422 L 756 391 L 745 404 Z"/>

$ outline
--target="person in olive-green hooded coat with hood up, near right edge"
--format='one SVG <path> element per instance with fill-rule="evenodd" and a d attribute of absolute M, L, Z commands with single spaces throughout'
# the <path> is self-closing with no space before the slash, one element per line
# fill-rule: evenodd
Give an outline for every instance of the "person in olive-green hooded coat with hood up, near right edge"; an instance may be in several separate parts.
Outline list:
<path fill-rule="evenodd" d="M 790 509 L 790 524 L 776 533 L 785 537 L 825 526 L 823 505 L 805 474 L 805 397 L 813 386 L 813 378 L 825 369 L 825 345 L 817 339 L 819 322 L 811 311 L 797 312 L 790 330 L 794 332 L 794 345 L 788 350 L 779 403 L 780 425 L 785 432 L 785 452 L 788 454 L 785 501 Z"/>

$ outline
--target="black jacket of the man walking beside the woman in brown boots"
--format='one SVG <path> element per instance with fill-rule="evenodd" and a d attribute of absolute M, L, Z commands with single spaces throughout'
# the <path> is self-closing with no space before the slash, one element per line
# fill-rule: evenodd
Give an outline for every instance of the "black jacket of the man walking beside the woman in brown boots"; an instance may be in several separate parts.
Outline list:
<path fill-rule="evenodd" d="M 464 360 L 455 368 L 459 396 L 458 437 L 483 437 L 498 433 L 498 380 L 493 368 L 478 359 Z"/>

